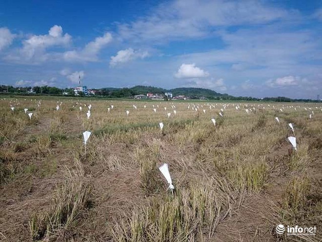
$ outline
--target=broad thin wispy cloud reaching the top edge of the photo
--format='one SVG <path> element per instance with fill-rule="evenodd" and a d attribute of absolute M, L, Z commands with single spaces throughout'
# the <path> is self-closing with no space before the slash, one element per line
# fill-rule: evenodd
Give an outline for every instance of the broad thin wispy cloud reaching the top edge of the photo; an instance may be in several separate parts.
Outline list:
<path fill-rule="evenodd" d="M 122 39 L 171 41 L 207 36 L 215 26 L 268 23 L 289 15 L 255 0 L 175 0 L 161 3 L 145 18 L 118 27 Z"/>

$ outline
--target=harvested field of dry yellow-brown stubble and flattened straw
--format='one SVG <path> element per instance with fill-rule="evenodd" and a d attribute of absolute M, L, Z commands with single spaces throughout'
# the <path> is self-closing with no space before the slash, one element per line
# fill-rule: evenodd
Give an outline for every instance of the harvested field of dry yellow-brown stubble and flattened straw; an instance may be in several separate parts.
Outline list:
<path fill-rule="evenodd" d="M 279 223 L 319 225 L 321 104 L 0 102 L 0 241 L 277 241 Z"/>

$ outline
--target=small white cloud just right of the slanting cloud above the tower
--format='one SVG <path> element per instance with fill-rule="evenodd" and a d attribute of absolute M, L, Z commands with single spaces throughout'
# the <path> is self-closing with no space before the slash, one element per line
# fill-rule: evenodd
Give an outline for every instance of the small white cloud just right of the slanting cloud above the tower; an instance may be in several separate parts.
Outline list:
<path fill-rule="evenodd" d="M 121 63 L 126 63 L 134 59 L 144 59 L 149 54 L 147 51 L 134 50 L 132 48 L 118 51 L 116 56 L 111 56 L 110 66 L 116 66 Z"/>

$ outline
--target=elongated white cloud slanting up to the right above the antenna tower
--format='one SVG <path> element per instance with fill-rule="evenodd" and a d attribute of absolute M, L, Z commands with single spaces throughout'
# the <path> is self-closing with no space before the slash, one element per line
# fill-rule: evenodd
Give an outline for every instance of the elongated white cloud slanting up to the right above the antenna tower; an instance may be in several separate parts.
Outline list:
<path fill-rule="evenodd" d="M 102 37 L 97 37 L 94 41 L 85 45 L 81 50 L 70 50 L 63 54 L 63 58 L 70 62 L 95 62 L 101 49 L 112 41 L 112 35 L 105 33 Z"/>

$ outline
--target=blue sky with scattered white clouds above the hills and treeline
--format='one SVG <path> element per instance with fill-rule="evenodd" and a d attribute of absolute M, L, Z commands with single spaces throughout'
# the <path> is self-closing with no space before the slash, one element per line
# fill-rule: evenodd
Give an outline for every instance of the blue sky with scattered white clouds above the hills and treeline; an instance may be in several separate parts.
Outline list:
<path fill-rule="evenodd" d="M 322 95 L 322 1 L 2 0 L 0 84 Z"/>

